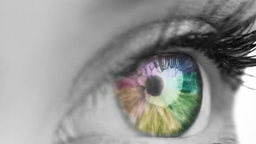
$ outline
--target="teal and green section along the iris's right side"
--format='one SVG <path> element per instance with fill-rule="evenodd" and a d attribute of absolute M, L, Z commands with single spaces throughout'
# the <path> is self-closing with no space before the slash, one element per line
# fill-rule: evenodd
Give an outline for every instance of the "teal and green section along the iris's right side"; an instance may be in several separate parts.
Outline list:
<path fill-rule="evenodd" d="M 179 97 L 168 105 L 168 108 L 176 121 L 181 126 L 183 133 L 194 123 L 201 107 L 201 82 L 197 73 L 183 75 L 183 85 Z"/>

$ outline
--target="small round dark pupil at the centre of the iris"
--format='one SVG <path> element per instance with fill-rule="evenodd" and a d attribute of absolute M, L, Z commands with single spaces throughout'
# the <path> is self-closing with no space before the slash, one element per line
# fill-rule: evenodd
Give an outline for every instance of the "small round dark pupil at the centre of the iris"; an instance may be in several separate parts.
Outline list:
<path fill-rule="evenodd" d="M 164 89 L 164 81 L 160 76 L 154 75 L 149 77 L 146 81 L 146 91 L 148 94 L 157 97 Z"/>

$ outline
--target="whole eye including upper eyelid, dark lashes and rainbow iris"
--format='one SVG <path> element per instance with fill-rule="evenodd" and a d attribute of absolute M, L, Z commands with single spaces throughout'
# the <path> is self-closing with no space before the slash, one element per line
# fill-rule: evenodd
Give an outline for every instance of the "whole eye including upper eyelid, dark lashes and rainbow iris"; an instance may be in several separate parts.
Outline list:
<path fill-rule="evenodd" d="M 196 19 L 154 22 L 108 45 L 76 79 L 71 95 L 77 101 L 56 142 L 232 139 L 230 92 L 241 70 L 255 64 L 245 53 L 253 50 L 256 31 L 225 37 L 214 30 Z"/>

